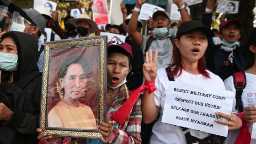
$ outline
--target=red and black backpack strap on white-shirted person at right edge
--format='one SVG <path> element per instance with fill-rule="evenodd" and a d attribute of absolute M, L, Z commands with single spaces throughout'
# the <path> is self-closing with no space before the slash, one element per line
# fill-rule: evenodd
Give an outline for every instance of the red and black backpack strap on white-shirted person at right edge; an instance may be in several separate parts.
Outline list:
<path fill-rule="evenodd" d="M 243 112 L 243 104 L 242 104 L 242 93 L 243 89 L 246 86 L 246 76 L 245 72 L 236 72 L 233 74 L 234 86 L 236 89 L 235 99 L 236 99 L 236 107 L 238 107 L 239 112 Z"/>

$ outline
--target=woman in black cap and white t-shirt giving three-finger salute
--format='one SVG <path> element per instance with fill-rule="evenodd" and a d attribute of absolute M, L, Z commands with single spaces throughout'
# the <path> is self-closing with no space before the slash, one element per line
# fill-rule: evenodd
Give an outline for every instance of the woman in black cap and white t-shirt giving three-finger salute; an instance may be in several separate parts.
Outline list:
<path fill-rule="evenodd" d="M 150 56 L 150 52 L 149 56 L 146 54 L 146 63 L 143 68 L 144 78 L 145 81 L 155 81 L 156 91 L 151 94 L 148 91 L 144 92 L 142 99 L 142 120 L 144 123 L 151 123 L 160 114 L 158 121 L 152 129 L 151 144 L 187 144 L 186 137 L 183 134 L 185 132 L 181 130 L 181 127 L 161 122 L 169 83 L 168 77 L 174 78 L 175 81 L 182 83 L 225 90 L 224 83 L 219 76 L 214 75 L 205 68 L 204 52 L 208 46 L 207 38 L 213 37 L 213 32 L 208 27 L 204 27 L 200 21 L 185 21 L 182 22 L 176 36 L 171 64 L 166 68 L 168 69 L 168 76 L 164 68 L 158 69 L 157 71 L 156 68 L 152 69 L 155 60 L 154 63 L 149 63 L 149 59 L 152 59 L 152 57 Z M 215 120 L 216 123 L 228 125 L 229 131 L 238 129 L 242 125 L 240 118 L 233 113 L 228 115 L 218 112 L 216 115 L 229 120 L 228 122 Z M 192 136 L 199 139 L 209 136 L 209 133 L 191 128 L 188 131 L 190 131 Z"/>

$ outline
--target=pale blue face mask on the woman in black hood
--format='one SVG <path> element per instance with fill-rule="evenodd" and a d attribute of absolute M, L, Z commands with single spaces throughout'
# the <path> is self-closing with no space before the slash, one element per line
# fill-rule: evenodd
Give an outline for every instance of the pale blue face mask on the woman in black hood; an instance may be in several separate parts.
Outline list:
<path fill-rule="evenodd" d="M 18 68 L 18 54 L 0 52 L 0 69 L 5 71 L 15 71 Z"/>

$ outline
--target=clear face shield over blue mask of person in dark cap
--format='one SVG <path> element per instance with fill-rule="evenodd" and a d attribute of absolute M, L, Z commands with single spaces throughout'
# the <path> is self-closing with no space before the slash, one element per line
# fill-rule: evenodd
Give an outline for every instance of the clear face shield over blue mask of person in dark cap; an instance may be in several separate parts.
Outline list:
<path fill-rule="evenodd" d="M 12 12 L 11 22 L 10 22 L 8 32 L 9 31 L 24 32 L 26 27 L 30 27 L 30 26 L 26 26 L 25 22 L 29 23 L 31 25 L 31 27 L 34 27 L 32 25 L 32 23 L 29 22 L 24 17 L 22 17 L 19 12 L 17 12 L 17 11 Z"/>

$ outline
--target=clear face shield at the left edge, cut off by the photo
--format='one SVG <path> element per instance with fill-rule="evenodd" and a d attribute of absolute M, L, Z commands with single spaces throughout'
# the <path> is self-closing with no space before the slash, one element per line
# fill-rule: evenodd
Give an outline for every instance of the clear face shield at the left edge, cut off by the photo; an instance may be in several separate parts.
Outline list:
<path fill-rule="evenodd" d="M 6 31 L 5 27 L 9 23 L 10 23 L 10 16 L 8 16 L 8 7 L 6 7 L 4 5 L 0 5 L 0 28 L 1 28 L 1 31 Z"/>

